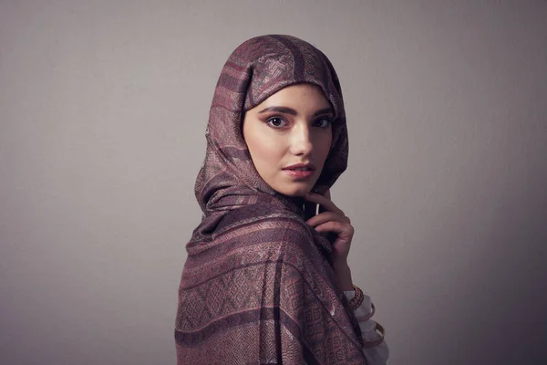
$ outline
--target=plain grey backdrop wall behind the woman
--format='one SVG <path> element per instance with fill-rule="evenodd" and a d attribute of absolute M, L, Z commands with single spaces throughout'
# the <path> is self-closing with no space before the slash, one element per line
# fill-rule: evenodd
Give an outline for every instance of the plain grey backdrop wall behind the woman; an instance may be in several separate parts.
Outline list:
<path fill-rule="evenodd" d="M 308 40 L 346 97 L 390 364 L 547 363 L 547 2 L 1 1 L 0 363 L 169 364 L 222 64 Z"/>

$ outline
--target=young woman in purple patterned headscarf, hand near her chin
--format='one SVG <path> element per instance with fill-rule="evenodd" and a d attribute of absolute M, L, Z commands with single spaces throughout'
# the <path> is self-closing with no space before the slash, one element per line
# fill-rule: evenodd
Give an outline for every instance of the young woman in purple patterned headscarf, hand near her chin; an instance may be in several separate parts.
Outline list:
<path fill-rule="evenodd" d="M 178 363 L 385 364 L 383 328 L 347 266 L 354 228 L 328 193 L 348 151 L 329 60 L 294 36 L 244 42 L 205 134 Z"/>

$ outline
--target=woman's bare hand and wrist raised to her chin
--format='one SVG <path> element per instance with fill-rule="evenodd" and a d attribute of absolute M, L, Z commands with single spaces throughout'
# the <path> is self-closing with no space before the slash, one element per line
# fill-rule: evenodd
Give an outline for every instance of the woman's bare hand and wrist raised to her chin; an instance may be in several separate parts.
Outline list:
<path fill-rule="evenodd" d="M 311 225 L 315 231 L 327 234 L 332 232 L 336 235 L 333 243 L 333 268 L 343 290 L 352 290 L 351 272 L 347 266 L 347 255 L 351 240 L 354 235 L 354 227 L 346 214 L 330 200 L 330 191 L 325 195 L 309 193 L 304 196 L 308 202 L 305 203 L 305 211 L 311 218 L 306 223 Z M 319 214 L 315 215 L 315 204 L 319 204 Z"/>

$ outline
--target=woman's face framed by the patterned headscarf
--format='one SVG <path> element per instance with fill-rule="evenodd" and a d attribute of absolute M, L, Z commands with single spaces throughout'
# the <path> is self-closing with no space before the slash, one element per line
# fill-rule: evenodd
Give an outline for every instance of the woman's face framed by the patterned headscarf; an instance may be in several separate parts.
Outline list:
<path fill-rule="evenodd" d="M 323 91 L 310 84 L 281 89 L 248 110 L 243 138 L 256 171 L 278 193 L 309 193 L 330 150 L 333 119 Z"/>

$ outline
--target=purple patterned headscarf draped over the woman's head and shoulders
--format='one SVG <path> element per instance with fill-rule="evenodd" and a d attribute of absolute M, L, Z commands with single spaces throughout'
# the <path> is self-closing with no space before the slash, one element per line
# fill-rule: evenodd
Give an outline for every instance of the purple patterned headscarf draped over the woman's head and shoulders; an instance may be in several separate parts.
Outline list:
<path fill-rule="evenodd" d="M 322 89 L 335 111 L 312 191 L 325 193 L 346 170 L 346 114 L 328 58 L 294 36 L 257 36 L 237 47 L 215 89 L 195 184 L 203 216 L 182 272 L 179 363 L 366 363 L 329 242 L 304 223 L 301 199 L 263 181 L 243 140 L 244 112 L 298 83 Z"/>

